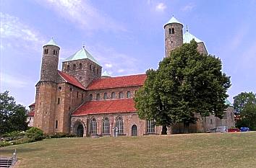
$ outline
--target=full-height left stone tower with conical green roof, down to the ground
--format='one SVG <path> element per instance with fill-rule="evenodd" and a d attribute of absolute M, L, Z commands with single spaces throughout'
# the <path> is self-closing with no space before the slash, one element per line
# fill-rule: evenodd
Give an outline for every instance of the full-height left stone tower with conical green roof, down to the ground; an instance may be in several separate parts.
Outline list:
<path fill-rule="evenodd" d="M 35 85 L 34 127 L 46 133 L 54 133 L 59 50 L 53 38 L 43 45 L 40 80 Z"/>

